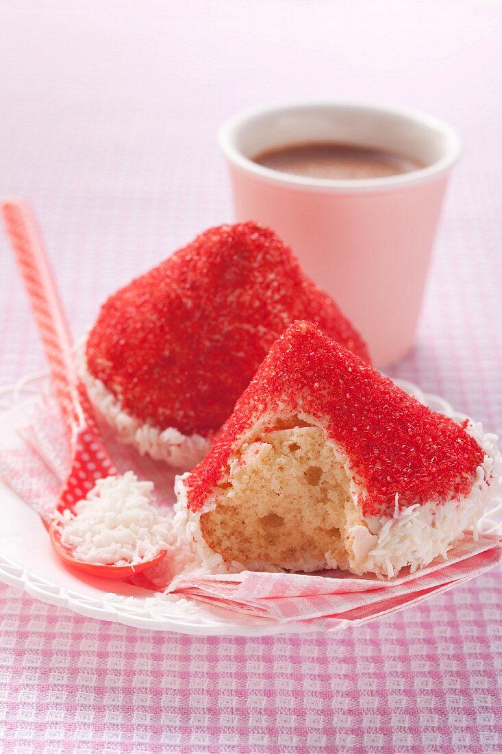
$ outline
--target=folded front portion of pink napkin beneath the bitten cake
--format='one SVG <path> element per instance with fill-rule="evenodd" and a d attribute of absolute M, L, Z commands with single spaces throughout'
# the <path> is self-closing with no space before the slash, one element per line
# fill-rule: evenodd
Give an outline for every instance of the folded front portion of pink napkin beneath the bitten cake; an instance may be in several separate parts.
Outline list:
<path fill-rule="evenodd" d="M 438 559 L 420 572 L 407 572 L 393 581 L 346 577 L 337 571 L 323 575 L 246 571 L 197 578 L 183 575 L 175 580 L 173 592 L 277 621 L 329 617 L 358 622 L 469 581 L 500 560 L 498 538 L 480 537 L 476 542 L 469 536 L 451 551 L 447 562 Z"/>

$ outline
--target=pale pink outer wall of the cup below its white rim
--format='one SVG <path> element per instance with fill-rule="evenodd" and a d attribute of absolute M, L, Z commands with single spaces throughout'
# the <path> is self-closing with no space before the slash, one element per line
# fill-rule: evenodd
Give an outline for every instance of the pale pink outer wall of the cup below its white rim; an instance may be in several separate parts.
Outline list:
<path fill-rule="evenodd" d="M 412 345 L 446 176 L 381 194 L 315 194 L 232 169 L 237 220 L 270 225 L 360 329 L 378 365 Z"/>

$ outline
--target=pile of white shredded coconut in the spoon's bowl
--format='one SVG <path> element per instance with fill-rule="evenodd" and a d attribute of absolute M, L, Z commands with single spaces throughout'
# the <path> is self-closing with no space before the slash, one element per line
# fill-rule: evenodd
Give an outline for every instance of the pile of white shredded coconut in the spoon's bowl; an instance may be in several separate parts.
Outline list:
<path fill-rule="evenodd" d="M 76 560 L 101 565 L 135 566 L 173 544 L 171 516 L 152 505 L 152 482 L 127 471 L 96 482 L 75 512 L 56 511 L 61 544 Z"/>

